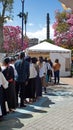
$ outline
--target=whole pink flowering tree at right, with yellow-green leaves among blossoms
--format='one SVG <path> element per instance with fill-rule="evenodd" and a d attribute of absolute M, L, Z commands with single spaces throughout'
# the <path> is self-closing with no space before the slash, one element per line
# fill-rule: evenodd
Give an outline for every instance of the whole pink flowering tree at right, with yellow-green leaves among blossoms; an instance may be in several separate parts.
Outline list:
<path fill-rule="evenodd" d="M 73 48 L 73 12 L 55 12 L 56 21 L 53 24 L 54 42 L 56 45 Z"/>

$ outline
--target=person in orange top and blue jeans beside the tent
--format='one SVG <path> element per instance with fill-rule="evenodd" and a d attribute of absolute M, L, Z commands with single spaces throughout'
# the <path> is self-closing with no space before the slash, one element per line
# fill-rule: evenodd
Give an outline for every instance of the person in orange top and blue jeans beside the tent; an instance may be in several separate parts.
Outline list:
<path fill-rule="evenodd" d="M 61 64 L 59 63 L 59 59 L 55 60 L 55 63 L 53 64 L 53 70 L 54 70 L 54 84 L 59 84 L 60 82 L 60 68 Z"/>

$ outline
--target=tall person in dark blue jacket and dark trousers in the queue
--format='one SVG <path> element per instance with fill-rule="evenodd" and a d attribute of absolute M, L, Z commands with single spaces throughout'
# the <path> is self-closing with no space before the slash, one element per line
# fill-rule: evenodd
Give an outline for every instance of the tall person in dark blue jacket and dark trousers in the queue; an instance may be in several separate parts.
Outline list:
<path fill-rule="evenodd" d="M 18 95 L 20 94 L 20 107 L 25 107 L 25 87 L 29 79 L 29 63 L 24 59 L 25 53 L 20 52 L 19 59 L 15 62 L 14 66 L 17 71 L 16 79 L 16 99 L 18 106 Z"/>

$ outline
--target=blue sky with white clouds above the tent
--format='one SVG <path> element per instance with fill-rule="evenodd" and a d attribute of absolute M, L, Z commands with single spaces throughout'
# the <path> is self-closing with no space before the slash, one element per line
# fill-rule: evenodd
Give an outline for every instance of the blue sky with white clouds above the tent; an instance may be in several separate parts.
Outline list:
<path fill-rule="evenodd" d="M 22 11 L 22 0 L 14 0 L 13 20 L 7 22 L 7 25 L 21 26 L 22 19 L 17 15 Z M 52 25 L 55 22 L 55 11 L 62 11 L 62 5 L 58 0 L 24 0 L 24 12 L 28 12 L 26 25 L 26 34 L 29 38 L 46 39 L 46 17 L 50 17 L 50 38 L 53 39 Z M 24 28 L 25 30 L 25 28 Z"/>

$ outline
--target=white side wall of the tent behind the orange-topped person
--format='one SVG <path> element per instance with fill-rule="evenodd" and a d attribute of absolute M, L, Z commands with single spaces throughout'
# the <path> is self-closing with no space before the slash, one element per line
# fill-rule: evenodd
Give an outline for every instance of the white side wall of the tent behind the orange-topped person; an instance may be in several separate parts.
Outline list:
<path fill-rule="evenodd" d="M 71 64 L 71 53 L 50 53 L 50 58 L 52 62 L 54 62 L 56 58 L 59 59 L 61 64 L 60 76 L 70 76 L 70 71 L 65 71 L 65 58 L 70 58 Z"/>

